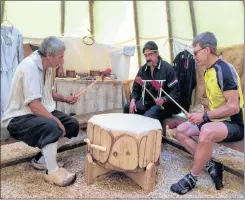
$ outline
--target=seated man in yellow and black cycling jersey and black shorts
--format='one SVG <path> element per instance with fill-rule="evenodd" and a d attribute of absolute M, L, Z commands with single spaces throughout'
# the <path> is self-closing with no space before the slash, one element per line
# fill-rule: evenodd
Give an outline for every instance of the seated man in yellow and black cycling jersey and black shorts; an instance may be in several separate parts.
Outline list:
<path fill-rule="evenodd" d="M 210 174 L 215 188 L 223 188 L 223 165 L 211 160 L 218 142 L 233 142 L 244 137 L 244 101 L 240 78 L 235 68 L 216 54 L 217 39 L 211 32 L 199 34 L 192 42 L 194 59 L 204 72 L 209 111 L 190 113 L 188 121 L 177 127 L 176 138 L 193 156 L 189 173 L 171 186 L 185 194 L 194 189 L 203 169 Z M 198 135 L 196 142 L 191 136 Z"/>

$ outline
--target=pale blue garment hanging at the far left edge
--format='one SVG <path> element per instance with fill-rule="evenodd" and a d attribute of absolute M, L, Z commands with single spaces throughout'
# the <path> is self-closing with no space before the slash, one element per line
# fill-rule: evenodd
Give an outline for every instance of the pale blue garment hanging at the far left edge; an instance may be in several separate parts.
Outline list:
<path fill-rule="evenodd" d="M 24 58 L 22 34 L 14 26 L 1 26 L 1 118 L 7 105 L 12 78 Z"/>

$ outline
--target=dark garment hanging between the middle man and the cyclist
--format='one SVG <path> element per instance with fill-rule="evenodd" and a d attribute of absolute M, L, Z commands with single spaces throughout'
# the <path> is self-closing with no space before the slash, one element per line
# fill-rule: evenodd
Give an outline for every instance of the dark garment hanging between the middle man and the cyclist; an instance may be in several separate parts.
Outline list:
<path fill-rule="evenodd" d="M 196 62 L 193 55 L 184 50 L 174 59 L 173 67 L 175 69 L 180 85 L 180 105 L 189 111 L 191 105 L 192 91 L 196 87 Z"/>

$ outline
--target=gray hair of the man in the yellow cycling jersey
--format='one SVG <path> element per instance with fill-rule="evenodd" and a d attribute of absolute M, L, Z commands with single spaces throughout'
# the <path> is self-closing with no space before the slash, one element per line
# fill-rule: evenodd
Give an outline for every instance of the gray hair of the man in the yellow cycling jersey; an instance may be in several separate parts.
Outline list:
<path fill-rule="evenodd" d="M 197 35 L 193 40 L 192 45 L 195 47 L 197 44 L 199 44 L 201 48 L 210 47 L 213 52 L 216 52 L 217 39 L 211 32 L 204 32 Z"/>

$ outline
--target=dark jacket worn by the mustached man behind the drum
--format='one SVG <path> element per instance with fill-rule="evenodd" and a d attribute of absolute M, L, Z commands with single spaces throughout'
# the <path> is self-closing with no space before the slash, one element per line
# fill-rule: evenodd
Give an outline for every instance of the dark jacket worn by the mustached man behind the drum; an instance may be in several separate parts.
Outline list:
<path fill-rule="evenodd" d="M 179 91 L 179 83 L 175 74 L 173 67 L 159 58 L 158 65 L 155 67 L 153 72 L 153 77 L 151 76 L 150 67 L 147 64 L 143 65 L 137 76 L 141 77 L 142 80 L 165 80 L 163 82 L 162 89 L 165 90 L 174 100 L 178 101 L 180 91 Z M 146 83 L 146 88 L 153 94 L 154 97 L 158 97 L 159 91 L 157 91 L 151 84 L 151 82 Z M 136 101 L 141 99 L 143 88 L 136 81 L 133 84 L 132 98 Z M 161 97 L 165 97 L 167 102 L 164 104 L 166 106 L 175 106 L 173 101 L 169 99 L 163 92 L 161 93 Z M 144 103 L 146 104 L 155 104 L 152 97 L 145 91 Z M 176 112 L 174 112 L 176 113 Z"/>

